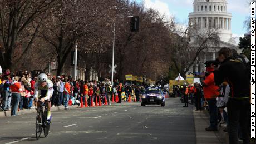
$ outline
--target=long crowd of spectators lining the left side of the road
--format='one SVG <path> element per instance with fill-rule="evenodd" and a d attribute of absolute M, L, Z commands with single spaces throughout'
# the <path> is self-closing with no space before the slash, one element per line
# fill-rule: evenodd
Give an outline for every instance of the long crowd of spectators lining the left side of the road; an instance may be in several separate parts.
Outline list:
<path fill-rule="evenodd" d="M 71 76 L 51 76 L 51 73 L 47 73 L 47 77 L 53 82 L 52 107 L 64 106 L 65 110 L 69 105 L 81 105 L 81 100 L 83 105 L 87 104 L 87 106 L 95 105 L 96 99 L 97 103 L 100 101 L 105 103 L 106 99 L 107 105 L 111 105 L 111 101 L 115 101 L 116 96 L 120 96 L 119 103 L 127 101 L 129 95 L 139 101 L 139 95 L 144 91 L 142 85 L 122 84 L 118 81 L 112 86 L 109 80 L 104 82 L 73 80 Z M 11 111 L 12 116 L 17 116 L 17 111 L 37 107 L 33 97 L 37 75 L 31 75 L 28 71 L 14 74 L 6 69 L 0 80 L 1 111 Z"/>

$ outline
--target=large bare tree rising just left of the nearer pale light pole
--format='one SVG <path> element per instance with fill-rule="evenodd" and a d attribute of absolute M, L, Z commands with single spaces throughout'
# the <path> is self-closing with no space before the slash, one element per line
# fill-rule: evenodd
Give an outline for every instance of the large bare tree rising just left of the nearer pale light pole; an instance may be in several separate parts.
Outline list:
<path fill-rule="evenodd" d="M 61 8 L 52 14 L 45 29 L 38 35 L 50 43 L 57 53 L 57 75 L 60 75 L 68 54 L 78 42 L 81 54 L 99 46 L 110 3 L 107 1 L 61 1 Z M 107 11 L 106 11 L 107 10 Z M 52 23 L 49 23 L 52 22 Z M 102 34 L 104 35 L 104 34 Z M 81 41 L 82 39 L 82 41 Z M 86 46 L 89 45 L 89 46 Z"/>

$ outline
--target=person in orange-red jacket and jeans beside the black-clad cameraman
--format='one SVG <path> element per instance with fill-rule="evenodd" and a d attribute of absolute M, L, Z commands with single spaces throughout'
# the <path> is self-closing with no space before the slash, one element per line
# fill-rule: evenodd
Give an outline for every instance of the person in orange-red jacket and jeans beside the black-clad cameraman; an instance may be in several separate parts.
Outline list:
<path fill-rule="evenodd" d="M 210 126 L 205 128 L 206 131 L 218 131 L 217 118 L 217 100 L 219 87 L 214 82 L 214 64 L 216 61 L 206 61 L 206 72 L 200 75 L 200 82 L 203 85 L 204 98 L 208 102 L 210 111 Z"/>

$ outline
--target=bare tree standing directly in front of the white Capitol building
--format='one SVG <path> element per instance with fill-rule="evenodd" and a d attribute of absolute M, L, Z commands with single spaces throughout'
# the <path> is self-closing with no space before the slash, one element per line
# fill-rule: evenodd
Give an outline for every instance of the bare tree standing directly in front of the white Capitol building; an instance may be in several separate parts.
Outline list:
<path fill-rule="evenodd" d="M 199 29 L 196 26 L 188 26 L 185 31 L 175 28 L 171 38 L 173 42 L 171 59 L 183 77 L 203 51 L 219 46 L 218 30 L 214 28 Z"/>

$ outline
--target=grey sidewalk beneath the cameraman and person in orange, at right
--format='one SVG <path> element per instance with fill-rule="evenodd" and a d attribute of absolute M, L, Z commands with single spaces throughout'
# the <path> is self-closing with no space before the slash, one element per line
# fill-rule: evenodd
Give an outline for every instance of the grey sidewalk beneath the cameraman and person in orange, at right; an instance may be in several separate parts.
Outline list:
<path fill-rule="evenodd" d="M 191 106 L 191 105 L 190 105 Z M 193 108 L 195 131 L 196 131 L 196 143 L 198 144 L 228 144 L 228 133 L 223 132 L 223 127 L 218 127 L 218 131 L 210 132 L 205 131 L 206 127 L 209 127 L 210 115 L 208 111 L 195 111 Z"/>

